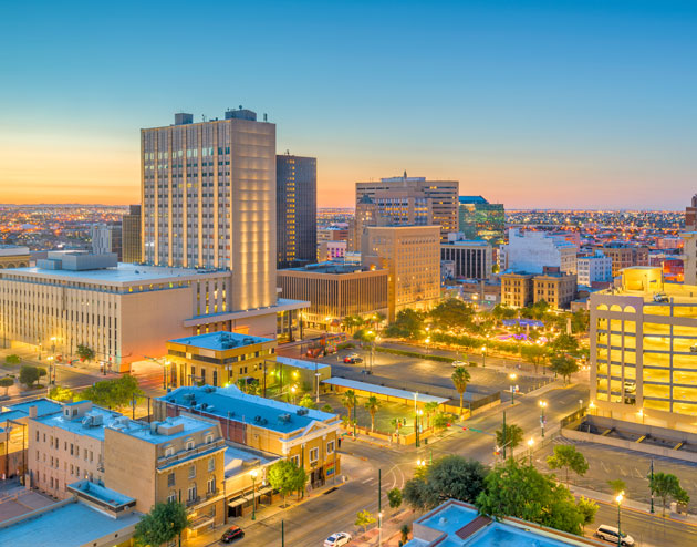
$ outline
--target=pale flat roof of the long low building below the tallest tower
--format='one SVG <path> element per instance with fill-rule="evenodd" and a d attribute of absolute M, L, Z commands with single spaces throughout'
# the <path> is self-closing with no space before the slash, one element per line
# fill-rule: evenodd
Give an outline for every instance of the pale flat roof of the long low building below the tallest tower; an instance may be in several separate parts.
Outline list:
<path fill-rule="evenodd" d="M 116 268 L 81 271 L 52 270 L 35 266 L 29 268 L 12 268 L 2 270 L 2 277 L 29 276 L 34 278 L 64 279 L 75 282 L 123 286 L 183 281 L 210 274 L 220 275 L 222 271 L 225 270 L 197 270 L 194 268 L 169 268 L 164 266 L 141 266 L 136 264 L 118 262 Z"/>

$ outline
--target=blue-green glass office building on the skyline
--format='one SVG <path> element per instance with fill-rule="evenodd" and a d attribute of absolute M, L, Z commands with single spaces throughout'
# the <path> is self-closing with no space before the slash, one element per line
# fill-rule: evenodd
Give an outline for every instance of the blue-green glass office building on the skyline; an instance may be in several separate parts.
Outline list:
<path fill-rule="evenodd" d="M 465 239 L 483 239 L 501 245 L 506 238 L 503 204 L 490 204 L 482 196 L 460 196 L 458 226 Z"/>

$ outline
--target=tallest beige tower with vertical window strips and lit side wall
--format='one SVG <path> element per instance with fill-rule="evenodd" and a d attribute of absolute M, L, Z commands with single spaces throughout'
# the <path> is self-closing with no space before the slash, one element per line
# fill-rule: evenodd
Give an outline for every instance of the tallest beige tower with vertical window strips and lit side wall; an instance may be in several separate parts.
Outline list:
<path fill-rule="evenodd" d="M 233 310 L 274 305 L 275 125 L 180 113 L 142 130 L 141 151 L 144 262 L 229 269 Z"/>

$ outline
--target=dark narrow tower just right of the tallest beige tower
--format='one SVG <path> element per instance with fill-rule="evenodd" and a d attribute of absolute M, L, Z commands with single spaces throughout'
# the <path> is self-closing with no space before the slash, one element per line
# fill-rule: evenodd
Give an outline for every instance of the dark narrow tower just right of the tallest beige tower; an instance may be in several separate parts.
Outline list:
<path fill-rule="evenodd" d="M 313 262 L 318 239 L 318 161 L 275 156 L 278 267 Z"/>

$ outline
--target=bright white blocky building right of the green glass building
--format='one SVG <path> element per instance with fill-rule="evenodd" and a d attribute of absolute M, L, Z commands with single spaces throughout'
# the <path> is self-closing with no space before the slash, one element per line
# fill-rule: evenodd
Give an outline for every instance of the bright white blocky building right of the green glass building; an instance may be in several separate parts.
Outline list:
<path fill-rule="evenodd" d="M 576 272 L 576 247 L 561 236 L 544 231 L 508 231 L 508 245 L 501 246 L 501 270 L 542 274 L 545 266 L 565 274 Z"/>

